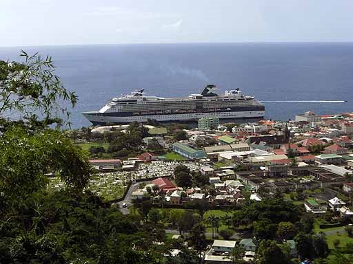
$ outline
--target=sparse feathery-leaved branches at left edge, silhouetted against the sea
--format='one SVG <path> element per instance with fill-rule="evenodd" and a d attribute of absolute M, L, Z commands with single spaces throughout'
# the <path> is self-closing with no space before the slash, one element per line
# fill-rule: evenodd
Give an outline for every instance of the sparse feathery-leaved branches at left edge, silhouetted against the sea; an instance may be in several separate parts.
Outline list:
<path fill-rule="evenodd" d="M 58 114 L 68 118 L 70 112 L 59 102 L 68 101 L 74 107 L 76 94 L 65 89 L 55 75 L 52 57 L 43 59 L 24 51 L 20 56 L 23 63 L 0 61 L 0 115 L 16 113 L 27 120 L 37 120 L 36 113 L 41 113 L 44 124 L 62 124 Z"/>

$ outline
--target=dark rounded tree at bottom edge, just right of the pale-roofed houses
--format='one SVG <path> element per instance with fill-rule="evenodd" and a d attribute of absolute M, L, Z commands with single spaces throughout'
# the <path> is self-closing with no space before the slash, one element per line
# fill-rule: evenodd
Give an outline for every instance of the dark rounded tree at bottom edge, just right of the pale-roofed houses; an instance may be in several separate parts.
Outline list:
<path fill-rule="evenodd" d="M 283 254 L 281 248 L 276 244 L 276 241 L 272 240 L 263 240 L 260 242 L 257 259 L 257 263 L 259 264 L 287 263 L 285 254 Z"/>

